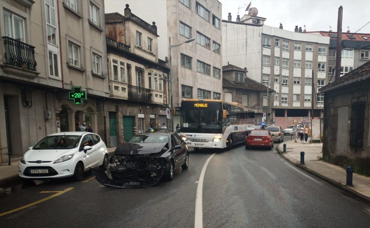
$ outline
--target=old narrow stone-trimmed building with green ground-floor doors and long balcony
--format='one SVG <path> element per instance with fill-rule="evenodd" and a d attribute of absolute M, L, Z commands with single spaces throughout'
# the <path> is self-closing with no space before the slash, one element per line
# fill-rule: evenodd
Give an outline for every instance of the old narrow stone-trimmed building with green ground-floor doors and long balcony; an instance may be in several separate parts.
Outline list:
<path fill-rule="evenodd" d="M 155 22 L 131 13 L 128 4 L 124 15 L 105 14 L 105 27 L 111 98 L 105 102 L 105 122 L 107 144 L 114 147 L 145 132 L 150 123 L 169 126 L 169 67 L 158 58 Z"/>

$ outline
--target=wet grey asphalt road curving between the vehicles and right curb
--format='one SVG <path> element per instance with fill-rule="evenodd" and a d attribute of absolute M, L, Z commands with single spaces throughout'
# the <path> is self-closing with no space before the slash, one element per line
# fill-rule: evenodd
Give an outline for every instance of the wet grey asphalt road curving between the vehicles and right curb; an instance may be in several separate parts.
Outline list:
<path fill-rule="evenodd" d="M 14 186 L 13 193 L 0 198 L 0 227 L 194 227 L 199 219 L 196 182 L 214 152 L 191 152 L 188 170 L 180 168 L 173 181 L 153 187 L 104 187 L 89 173 L 80 182 Z M 216 152 L 205 169 L 202 190 L 203 227 L 370 224 L 370 205 L 297 169 L 275 150 L 239 146 Z"/>

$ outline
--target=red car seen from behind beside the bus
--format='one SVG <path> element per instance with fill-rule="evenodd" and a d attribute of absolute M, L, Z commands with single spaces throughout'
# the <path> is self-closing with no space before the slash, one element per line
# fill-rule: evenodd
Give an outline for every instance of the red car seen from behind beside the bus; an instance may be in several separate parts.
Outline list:
<path fill-rule="evenodd" d="M 245 140 L 245 149 L 249 149 L 251 146 L 268 147 L 272 150 L 274 139 L 268 130 L 252 130 Z"/>

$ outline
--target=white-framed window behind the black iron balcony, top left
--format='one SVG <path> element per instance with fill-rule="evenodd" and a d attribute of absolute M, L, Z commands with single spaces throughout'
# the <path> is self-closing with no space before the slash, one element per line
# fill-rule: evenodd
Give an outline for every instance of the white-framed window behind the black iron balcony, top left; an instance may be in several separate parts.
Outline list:
<path fill-rule="evenodd" d="M 3 12 L 4 12 L 5 36 L 13 38 L 17 41 L 25 42 L 23 19 L 7 11 Z"/>

